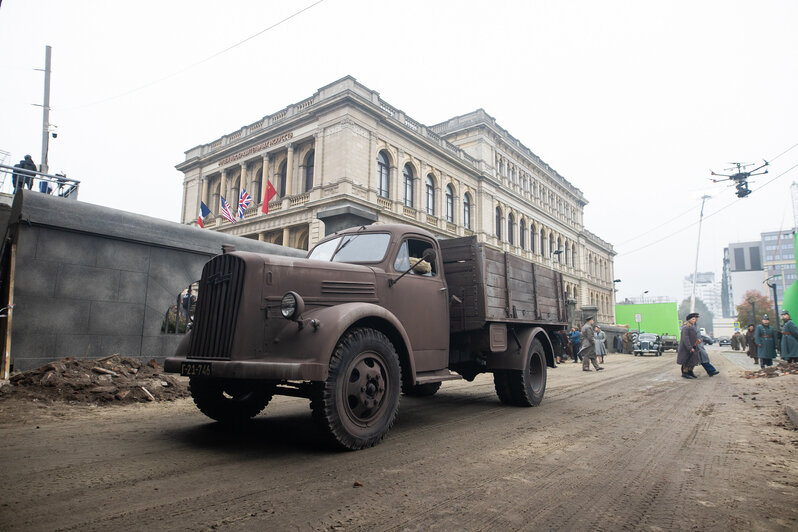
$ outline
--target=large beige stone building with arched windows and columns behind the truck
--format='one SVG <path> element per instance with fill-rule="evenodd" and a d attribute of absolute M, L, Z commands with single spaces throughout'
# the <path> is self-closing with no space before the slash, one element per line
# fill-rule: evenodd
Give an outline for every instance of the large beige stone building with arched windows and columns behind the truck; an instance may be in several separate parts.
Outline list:
<path fill-rule="evenodd" d="M 440 238 L 477 235 L 562 271 L 578 307 L 614 323 L 612 245 L 583 224 L 582 192 L 482 109 L 426 126 L 352 77 L 186 152 L 183 223 L 308 249 L 362 223 L 408 223 Z M 267 181 L 277 191 L 262 212 Z M 243 219 L 241 189 L 253 198 Z"/>

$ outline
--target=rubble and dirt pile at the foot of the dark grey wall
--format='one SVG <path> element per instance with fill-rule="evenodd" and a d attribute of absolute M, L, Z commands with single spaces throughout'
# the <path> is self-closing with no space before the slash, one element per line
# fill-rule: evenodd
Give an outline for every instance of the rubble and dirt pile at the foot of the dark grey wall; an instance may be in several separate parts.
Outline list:
<path fill-rule="evenodd" d="M 159 372 L 155 359 L 111 355 L 100 359 L 67 357 L 12 375 L 0 388 L 2 397 L 89 404 L 173 401 L 188 397 L 188 386 Z"/>

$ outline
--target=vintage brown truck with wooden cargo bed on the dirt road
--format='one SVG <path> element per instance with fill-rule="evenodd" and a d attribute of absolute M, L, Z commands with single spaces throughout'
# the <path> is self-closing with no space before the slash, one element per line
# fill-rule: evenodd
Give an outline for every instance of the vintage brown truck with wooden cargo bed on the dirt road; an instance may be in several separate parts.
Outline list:
<path fill-rule="evenodd" d="M 543 399 L 550 335 L 566 325 L 562 275 L 409 225 L 347 229 L 307 258 L 226 250 L 203 268 L 192 328 L 165 370 L 224 422 L 274 395 L 310 399 L 345 449 L 379 442 L 400 395 L 493 373 L 501 402 Z M 452 373 L 455 372 L 455 373 Z"/>

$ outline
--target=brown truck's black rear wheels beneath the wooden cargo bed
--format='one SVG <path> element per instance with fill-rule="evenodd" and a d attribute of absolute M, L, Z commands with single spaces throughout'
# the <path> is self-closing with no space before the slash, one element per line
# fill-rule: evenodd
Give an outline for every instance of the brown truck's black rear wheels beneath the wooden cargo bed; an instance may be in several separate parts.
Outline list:
<path fill-rule="evenodd" d="M 546 354 L 539 340 L 532 345 L 524 361 L 524 369 L 507 369 L 493 374 L 496 395 L 504 404 L 537 406 L 546 391 Z"/>

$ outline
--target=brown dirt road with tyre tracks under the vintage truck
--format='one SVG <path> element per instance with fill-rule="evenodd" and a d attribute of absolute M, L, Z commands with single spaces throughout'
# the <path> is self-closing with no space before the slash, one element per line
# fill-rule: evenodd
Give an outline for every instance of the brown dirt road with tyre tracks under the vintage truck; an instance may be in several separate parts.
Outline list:
<path fill-rule="evenodd" d="M 301 399 L 235 434 L 185 399 L 4 401 L 0 529 L 796 530 L 782 403 L 798 376 L 746 380 L 713 357 L 722 373 L 698 380 L 672 352 L 565 364 L 538 408 L 500 405 L 490 376 L 445 383 L 355 453 L 320 443 Z"/>

